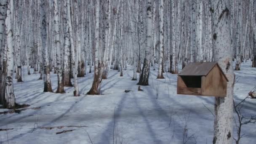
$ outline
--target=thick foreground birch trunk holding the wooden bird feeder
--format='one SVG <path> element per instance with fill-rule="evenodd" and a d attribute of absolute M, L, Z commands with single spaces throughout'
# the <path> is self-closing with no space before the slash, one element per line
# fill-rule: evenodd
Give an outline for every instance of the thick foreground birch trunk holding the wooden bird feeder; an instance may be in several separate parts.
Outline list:
<path fill-rule="evenodd" d="M 230 34 L 229 0 L 211 0 L 213 59 L 217 61 L 229 82 L 227 96 L 215 98 L 213 144 L 232 144 L 233 86 L 232 47 Z"/>

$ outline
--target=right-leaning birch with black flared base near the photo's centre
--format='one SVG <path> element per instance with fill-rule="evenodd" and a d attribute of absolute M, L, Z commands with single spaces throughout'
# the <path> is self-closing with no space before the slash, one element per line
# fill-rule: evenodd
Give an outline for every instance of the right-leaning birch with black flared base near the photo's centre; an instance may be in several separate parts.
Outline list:
<path fill-rule="evenodd" d="M 146 48 L 145 48 L 145 56 L 143 62 L 143 68 L 141 72 L 141 76 L 139 77 L 138 85 L 149 85 L 149 68 L 150 68 L 150 58 L 152 51 L 152 0 L 147 0 L 147 35 L 146 35 Z"/>

